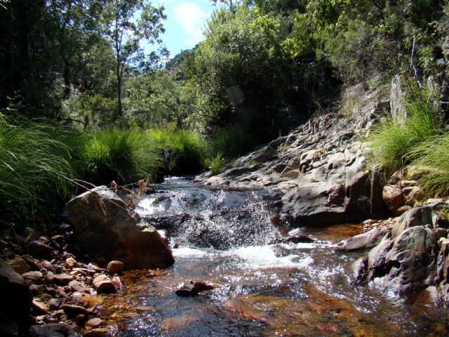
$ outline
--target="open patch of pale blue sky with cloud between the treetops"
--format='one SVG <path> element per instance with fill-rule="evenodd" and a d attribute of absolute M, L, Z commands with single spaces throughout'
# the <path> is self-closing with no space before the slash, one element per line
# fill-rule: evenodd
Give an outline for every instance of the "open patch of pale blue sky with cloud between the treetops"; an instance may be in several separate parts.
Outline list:
<path fill-rule="evenodd" d="M 209 0 L 153 0 L 152 4 L 166 8 L 162 39 L 171 58 L 203 41 L 204 23 L 214 9 Z"/>

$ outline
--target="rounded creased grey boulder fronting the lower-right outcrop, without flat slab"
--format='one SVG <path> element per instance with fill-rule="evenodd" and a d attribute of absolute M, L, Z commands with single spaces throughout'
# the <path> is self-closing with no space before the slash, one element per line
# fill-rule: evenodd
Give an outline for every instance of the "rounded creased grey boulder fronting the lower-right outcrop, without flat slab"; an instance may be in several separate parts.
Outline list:
<path fill-rule="evenodd" d="M 375 253 L 370 251 L 370 279 L 398 293 L 429 286 L 436 279 L 437 248 L 434 232 L 428 228 L 415 226 L 403 230 L 387 246 L 375 247 Z"/>

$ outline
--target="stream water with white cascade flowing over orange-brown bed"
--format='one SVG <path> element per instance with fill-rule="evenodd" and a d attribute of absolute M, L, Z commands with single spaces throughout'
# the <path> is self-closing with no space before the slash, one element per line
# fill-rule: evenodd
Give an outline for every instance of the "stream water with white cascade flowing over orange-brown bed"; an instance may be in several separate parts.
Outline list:
<path fill-rule="evenodd" d="M 103 297 L 113 336 L 447 336 L 449 317 L 426 291 L 399 298 L 351 283 L 363 252 L 331 244 L 360 225 L 293 228 L 277 216 L 279 194 L 216 189 L 168 178 L 136 211 L 168 230 L 175 264 L 126 272 L 125 287 Z M 302 235 L 314 243 L 288 237 Z M 215 289 L 175 294 L 201 279 Z"/>

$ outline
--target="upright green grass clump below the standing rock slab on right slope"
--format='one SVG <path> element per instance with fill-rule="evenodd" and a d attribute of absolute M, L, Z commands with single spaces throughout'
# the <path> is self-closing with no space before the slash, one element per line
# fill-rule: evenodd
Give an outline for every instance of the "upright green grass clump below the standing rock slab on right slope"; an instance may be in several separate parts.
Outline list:
<path fill-rule="evenodd" d="M 440 133 L 430 102 L 415 100 L 408 105 L 408 113 L 402 123 L 389 117 L 373 126 L 367 139 L 370 164 L 390 171 L 401 169 L 415 159 L 413 154 L 409 154 L 411 150 Z"/>

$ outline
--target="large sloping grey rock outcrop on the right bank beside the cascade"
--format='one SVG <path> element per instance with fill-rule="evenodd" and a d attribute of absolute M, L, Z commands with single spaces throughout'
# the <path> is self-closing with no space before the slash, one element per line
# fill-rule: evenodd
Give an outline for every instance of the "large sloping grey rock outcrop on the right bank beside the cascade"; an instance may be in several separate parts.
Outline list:
<path fill-rule="evenodd" d="M 225 168 L 196 180 L 236 187 L 269 187 L 282 192 L 283 216 L 300 225 L 328 225 L 382 218 L 386 208 L 377 174 L 366 170 L 365 135 L 378 114 L 389 109 L 380 92 L 356 86 L 344 95 L 342 114 L 310 119 Z M 352 104 L 356 102 L 356 104 Z"/>

